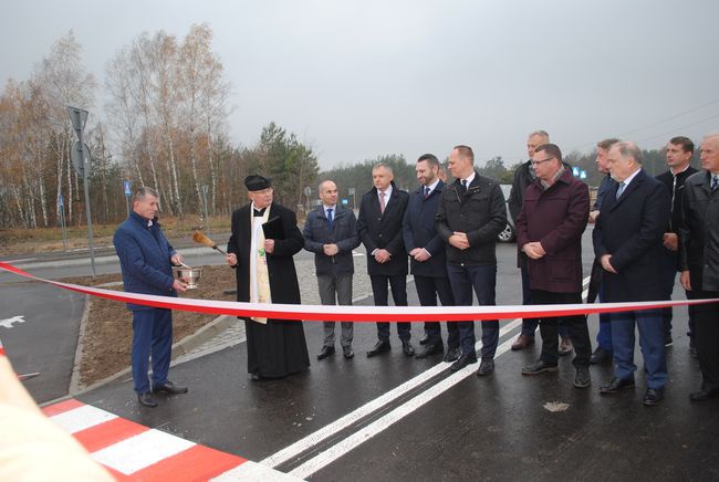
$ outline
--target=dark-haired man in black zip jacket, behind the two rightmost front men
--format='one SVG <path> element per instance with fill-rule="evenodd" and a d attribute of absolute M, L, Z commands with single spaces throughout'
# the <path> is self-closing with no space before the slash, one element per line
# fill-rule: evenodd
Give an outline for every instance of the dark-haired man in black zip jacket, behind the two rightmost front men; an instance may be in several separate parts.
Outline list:
<path fill-rule="evenodd" d="M 667 144 L 667 166 L 669 170 L 661 172 L 657 179 L 664 184 L 671 193 L 671 219 L 667 227 L 667 232 L 664 233 L 664 262 L 665 273 L 664 287 L 666 290 L 666 297 L 671 297 L 674 291 L 674 282 L 677 279 L 677 270 L 679 264 L 679 237 L 677 234 L 679 224 L 681 224 L 681 193 L 684 190 L 684 181 L 695 174 L 697 169 L 691 167 L 691 156 L 694 155 L 694 143 L 691 139 L 678 136 L 673 137 Z M 690 292 L 687 292 L 690 295 Z M 671 306 L 666 307 L 661 312 L 664 322 L 664 344 L 665 346 L 671 345 Z M 689 346 L 694 353 L 694 339 L 691 333 L 691 310 L 689 310 Z"/>

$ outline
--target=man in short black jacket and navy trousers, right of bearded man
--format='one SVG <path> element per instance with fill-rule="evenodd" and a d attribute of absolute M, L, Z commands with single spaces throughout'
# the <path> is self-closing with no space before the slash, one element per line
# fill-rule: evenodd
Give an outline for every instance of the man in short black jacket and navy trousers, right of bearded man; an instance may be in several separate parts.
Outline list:
<path fill-rule="evenodd" d="M 499 185 L 475 170 L 475 154 L 456 146 L 449 156 L 455 182 L 445 189 L 437 210 L 437 232 L 447 242 L 447 271 L 458 306 L 472 304 L 472 289 L 480 305 L 494 305 L 497 285 L 496 242 L 507 227 L 504 196 Z M 458 322 L 461 355 L 451 366 L 459 370 L 477 363 L 475 322 Z M 482 323 L 482 363 L 477 375 L 494 370 L 499 321 Z"/>

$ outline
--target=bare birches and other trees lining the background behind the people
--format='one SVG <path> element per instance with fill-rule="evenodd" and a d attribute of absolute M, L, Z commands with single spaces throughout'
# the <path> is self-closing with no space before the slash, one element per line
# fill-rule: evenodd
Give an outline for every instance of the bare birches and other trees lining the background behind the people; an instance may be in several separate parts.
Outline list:
<path fill-rule="evenodd" d="M 279 201 L 293 209 L 316 199 L 323 179 L 335 180 L 341 197 L 354 206 L 371 189 L 372 166 L 378 161 L 393 167 L 399 188 L 415 189 L 414 159 L 408 163 L 402 154 L 320 172 L 312 148 L 274 123 L 263 127 L 256 145 L 233 145 L 228 135 L 231 85 L 211 41 L 207 24 L 192 25 L 184 38 L 142 33 L 107 62 L 100 91 L 70 32 L 30 78 L 8 81 L 0 95 L 0 229 L 55 227 L 61 210 L 69 224 L 85 221 L 83 178 L 71 161 L 75 134 L 69 105 L 91 112 L 85 142 L 93 159 L 88 188 L 95 222 L 125 217 L 123 179 L 156 188 L 163 216 L 180 218 L 229 214 L 246 201 L 242 179 L 251 172 L 271 177 Z M 573 151 L 566 160 L 586 170 L 587 184 L 600 184 L 594 153 Z M 494 157 L 478 160 L 477 168 L 510 184 L 519 164 L 508 167 Z M 645 167 L 653 175 L 665 170 L 664 154 L 645 151 Z"/>

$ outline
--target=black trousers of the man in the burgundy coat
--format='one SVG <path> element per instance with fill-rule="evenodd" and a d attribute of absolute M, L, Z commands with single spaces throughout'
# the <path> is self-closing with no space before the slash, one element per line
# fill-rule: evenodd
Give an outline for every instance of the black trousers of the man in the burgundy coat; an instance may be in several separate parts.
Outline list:
<path fill-rule="evenodd" d="M 532 290 L 533 305 L 570 303 L 582 303 L 582 293 L 552 293 L 543 290 Z M 592 344 L 584 315 L 542 317 L 540 319 L 540 333 L 542 334 L 541 358 L 550 365 L 556 365 L 559 360 L 558 335 L 560 319 L 569 329 L 570 338 L 572 338 L 572 344 L 574 345 L 576 356 L 572 363 L 575 367 L 582 365 L 588 366 L 590 357 L 592 356 Z"/>

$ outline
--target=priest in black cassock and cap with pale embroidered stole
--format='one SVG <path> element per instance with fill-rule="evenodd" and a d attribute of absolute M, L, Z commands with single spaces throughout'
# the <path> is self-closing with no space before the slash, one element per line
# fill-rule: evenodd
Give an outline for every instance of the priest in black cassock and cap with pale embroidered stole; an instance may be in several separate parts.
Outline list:
<path fill-rule="evenodd" d="M 270 179 L 244 179 L 252 202 L 232 213 L 227 263 L 236 269 L 237 301 L 300 304 L 292 256 L 304 247 L 293 211 L 272 202 Z M 247 370 L 253 380 L 281 378 L 310 367 L 302 322 L 244 319 Z"/>

